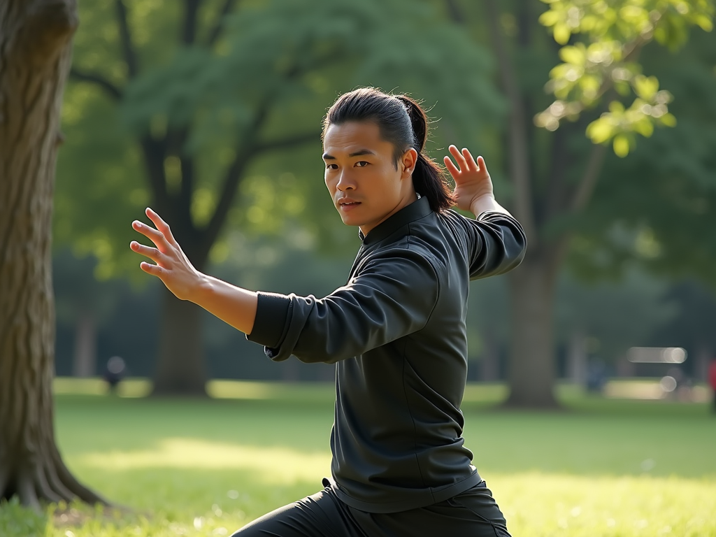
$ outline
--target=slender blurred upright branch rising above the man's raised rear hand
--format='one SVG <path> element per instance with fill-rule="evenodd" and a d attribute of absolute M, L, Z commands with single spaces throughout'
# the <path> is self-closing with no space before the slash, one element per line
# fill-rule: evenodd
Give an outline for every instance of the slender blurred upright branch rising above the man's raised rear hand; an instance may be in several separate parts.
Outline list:
<path fill-rule="evenodd" d="M 500 20 L 495 0 L 485 0 L 484 3 L 489 19 L 490 40 L 495 45 L 495 54 L 498 59 L 500 79 L 510 101 L 509 168 L 515 186 L 515 216 L 525 229 L 528 239 L 532 243 L 536 243 L 538 237 L 532 211 L 526 111 L 514 65 L 508 54 L 502 32 L 500 32 Z"/>

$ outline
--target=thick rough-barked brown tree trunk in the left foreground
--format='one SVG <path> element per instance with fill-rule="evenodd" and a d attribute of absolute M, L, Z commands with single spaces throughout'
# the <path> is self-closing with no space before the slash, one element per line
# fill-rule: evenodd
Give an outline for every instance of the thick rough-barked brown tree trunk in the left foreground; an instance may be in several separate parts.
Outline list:
<path fill-rule="evenodd" d="M 103 502 L 54 441 L 52 193 L 74 0 L 0 3 L 0 498 Z"/>

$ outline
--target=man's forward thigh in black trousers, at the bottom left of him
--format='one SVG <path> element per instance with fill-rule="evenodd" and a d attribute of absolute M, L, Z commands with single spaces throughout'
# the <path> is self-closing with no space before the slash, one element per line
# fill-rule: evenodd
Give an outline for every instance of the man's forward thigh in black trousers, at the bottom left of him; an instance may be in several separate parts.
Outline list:
<path fill-rule="evenodd" d="M 284 505 L 232 537 L 366 537 L 330 488 Z"/>

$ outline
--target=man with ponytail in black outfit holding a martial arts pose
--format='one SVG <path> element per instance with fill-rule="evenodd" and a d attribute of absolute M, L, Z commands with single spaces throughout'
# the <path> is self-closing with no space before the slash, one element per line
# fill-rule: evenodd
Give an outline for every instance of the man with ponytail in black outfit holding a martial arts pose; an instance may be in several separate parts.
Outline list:
<path fill-rule="evenodd" d="M 132 223 L 155 244 L 130 244 L 155 262 L 142 270 L 179 299 L 241 330 L 270 359 L 337 364 L 331 478 L 235 536 L 509 537 L 463 445 L 460 404 L 469 280 L 516 267 L 523 230 L 495 201 L 483 158 L 454 145 L 454 162 L 444 158 L 451 191 L 422 153 L 427 117 L 410 97 L 344 94 L 321 137 L 326 187 L 362 240 L 347 284 L 323 299 L 201 274 L 157 213 L 147 208 L 156 228 Z"/>

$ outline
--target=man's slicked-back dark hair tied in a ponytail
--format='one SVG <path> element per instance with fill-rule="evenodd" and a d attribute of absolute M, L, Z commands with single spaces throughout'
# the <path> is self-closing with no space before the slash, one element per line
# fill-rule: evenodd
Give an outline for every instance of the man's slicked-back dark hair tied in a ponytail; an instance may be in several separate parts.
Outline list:
<path fill-rule="evenodd" d="M 412 172 L 415 191 L 425 196 L 433 211 L 444 211 L 455 205 L 450 183 L 440 165 L 422 153 L 427 140 L 427 116 L 420 105 L 407 95 L 388 95 L 372 87 L 344 93 L 323 121 L 321 138 L 329 125 L 349 121 L 375 122 L 383 140 L 395 146 L 395 165 L 410 148 L 417 151 L 417 163 Z"/>

